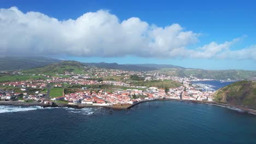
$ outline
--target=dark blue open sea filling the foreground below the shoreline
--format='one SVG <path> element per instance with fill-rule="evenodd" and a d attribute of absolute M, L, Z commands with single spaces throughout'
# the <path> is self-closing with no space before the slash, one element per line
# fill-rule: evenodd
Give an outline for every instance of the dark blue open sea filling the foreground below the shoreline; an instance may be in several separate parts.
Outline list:
<path fill-rule="evenodd" d="M 150 101 L 131 110 L 0 106 L 0 143 L 256 143 L 256 116 Z"/>

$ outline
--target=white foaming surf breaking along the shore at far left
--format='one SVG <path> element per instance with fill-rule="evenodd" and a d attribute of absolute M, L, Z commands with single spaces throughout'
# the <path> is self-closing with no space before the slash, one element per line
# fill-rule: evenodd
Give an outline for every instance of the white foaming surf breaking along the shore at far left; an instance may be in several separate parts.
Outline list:
<path fill-rule="evenodd" d="M 22 106 L 0 106 L 0 113 L 32 111 L 32 110 L 38 110 L 38 109 L 43 109 L 43 107 L 41 107 L 41 106 L 28 106 L 28 107 L 22 107 Z"/>

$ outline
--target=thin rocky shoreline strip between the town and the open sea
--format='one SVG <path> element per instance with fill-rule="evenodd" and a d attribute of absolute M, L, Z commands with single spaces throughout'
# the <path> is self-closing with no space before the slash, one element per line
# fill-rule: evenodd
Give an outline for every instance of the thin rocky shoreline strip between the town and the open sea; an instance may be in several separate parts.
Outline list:
<path fill-rule="evenodd" d="M 256 110 L 254 109 L 248 109 L 246 107 L 242 107 L 242 106 L 237 106 L 237 105 L 229 105 L 229 104 L 222 104 L 222 103 L 216 103 L 214 101 L 197 101 L 197 100 L 181 100 L 181 99 L 153 99 L 153 100 L 144 100 L 144 101 L 139 101 L 136 104 L 118 104 L 118 105 L 113 105 L 113 106 L 97 106 L 97 105 L 82 105 L 82 104 L 78 104 L 78 105 L 68 105 L 68 104 L 54 104 L 54 105 L 45 105 L 42 103 L 37 103 L 37 102 L 32 102 L 32 103 L 25 103 L 22 101 L 0 101 L 0 105 L 10 105 L 10 106 L 41 106 L 41 107 L 70 107 L 70 108 L 74 108 L 74 109 L 83 109 L 85 107 L 89 107 L 89 108 L 95 108 L 95 107 L 103 107 L 105 109 L 113 109 L 113 110 L 127 110 L 127 109 L 131 109 L 132 107 L 141 104 L 141 103 L 146 103 L 149 101 L 156 101 L 156 100 L 160 100 L 160 101 L 184 101 L 184 102 L 191 102 L 191 103 L 201 103 L 201 104 L 212 104 L 212 105 L 216 105 L 216 106 L 223 106 L 232 110 L 240 110 L 241 112 L 245 112 L 245 113 L 249 113 L 252 115 L 256 115 Z"/>

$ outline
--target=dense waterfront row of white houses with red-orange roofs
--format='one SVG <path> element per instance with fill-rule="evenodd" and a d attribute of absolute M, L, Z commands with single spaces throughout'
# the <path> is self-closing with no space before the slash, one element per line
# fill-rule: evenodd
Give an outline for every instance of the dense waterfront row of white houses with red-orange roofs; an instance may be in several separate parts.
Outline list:
<path fill-rule="evenodd" d="M 212 101 L 213 92 L 201 92 L 193 87 L 188 87 L 184 91 L 184 86 L 169 88 L 167 93 L 164 88 L 149 87 L 147 91 L 138 89 L 126 89 L 114 92 L 103 90 L 79 91 L 65 94 L 62 97 L 51 100 L 66 100 L 68 104 L 91 104 L 99 106 L 109 106 L 113 104 L 135 104 L 139 101 L 154 99 L 183 99 L 183 100 L 209 100 Z M 135 95 L 135 97 L 133 97 Z"/>

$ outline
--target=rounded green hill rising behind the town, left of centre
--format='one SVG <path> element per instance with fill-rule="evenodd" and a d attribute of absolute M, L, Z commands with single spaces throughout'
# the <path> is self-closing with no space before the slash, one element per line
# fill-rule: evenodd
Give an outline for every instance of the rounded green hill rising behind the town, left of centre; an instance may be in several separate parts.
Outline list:
<path fill-rule="evenodd" d="M 28 69 L 22 71 L 24 74 L 45 74 L 45 75 L 55 75 L 55 74 L 83 74 L 84 64 L 76 61 L 62 61 L 60 63 L 54 63 L 45 65 L 44 67 L 38 67 L 33 69 Z"/>

